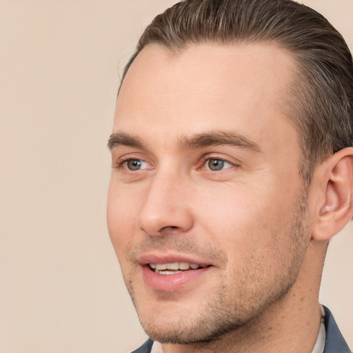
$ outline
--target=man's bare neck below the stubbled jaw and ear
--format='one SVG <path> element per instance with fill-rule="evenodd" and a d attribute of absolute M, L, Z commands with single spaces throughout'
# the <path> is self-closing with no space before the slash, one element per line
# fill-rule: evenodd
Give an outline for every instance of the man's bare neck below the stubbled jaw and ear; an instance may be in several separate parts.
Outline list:
<path fill-rule="evenodd" d="M 162 345 L 164 353 L 311 353 L 319 334 L 319 288 L 326 244 L 313 242 L 296 282 L 280 301 L 216 341 Z"/>

